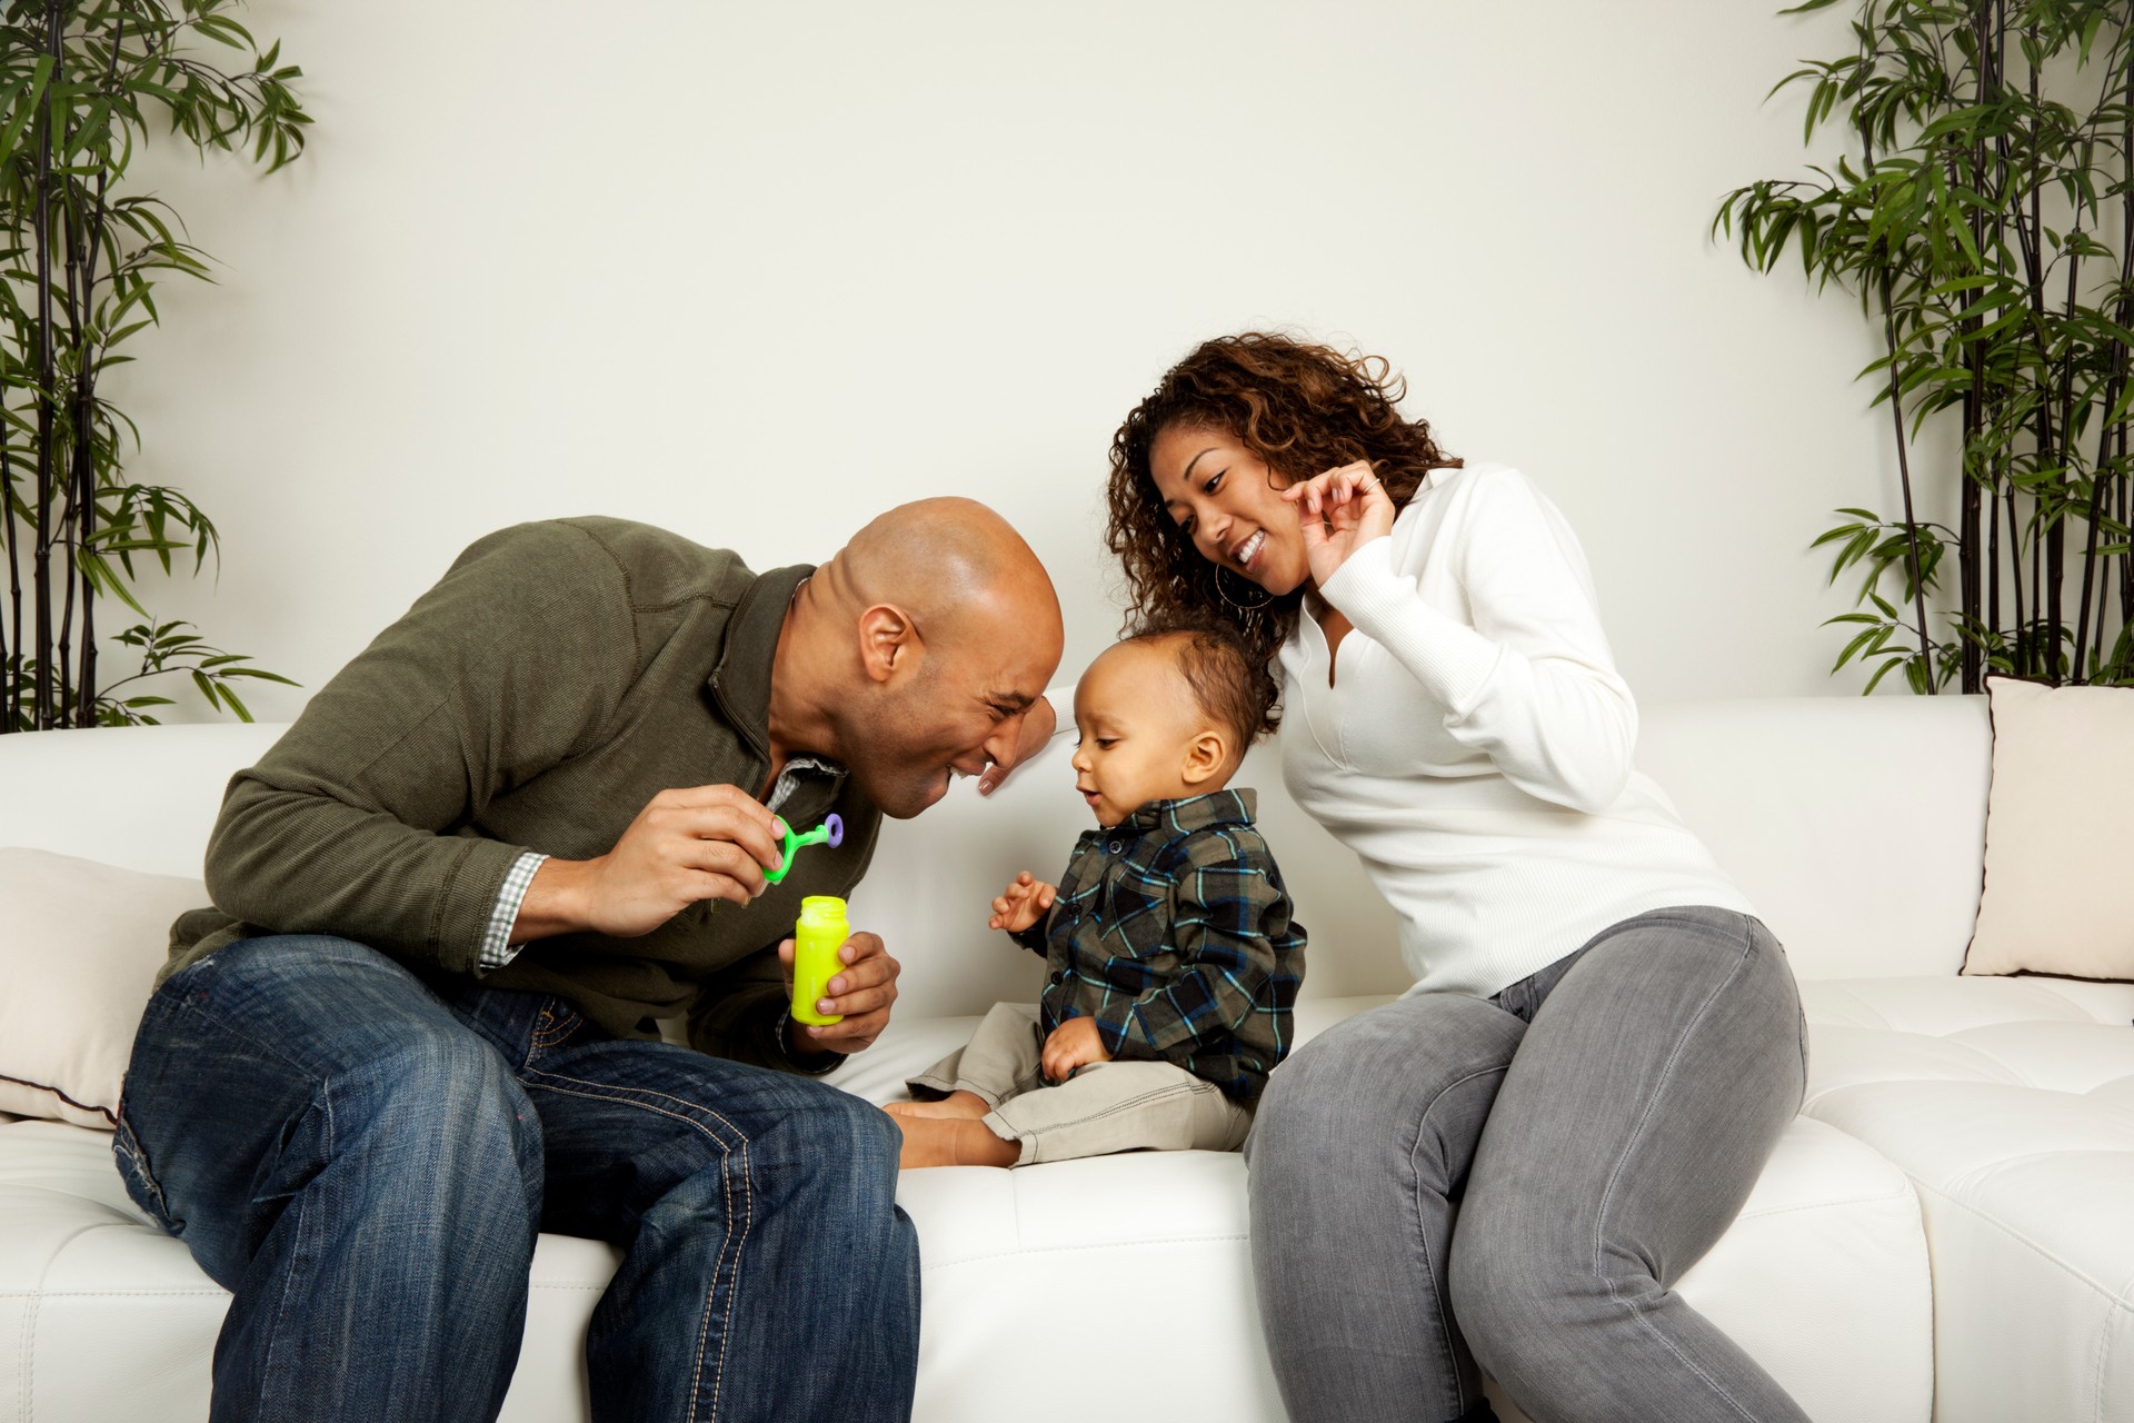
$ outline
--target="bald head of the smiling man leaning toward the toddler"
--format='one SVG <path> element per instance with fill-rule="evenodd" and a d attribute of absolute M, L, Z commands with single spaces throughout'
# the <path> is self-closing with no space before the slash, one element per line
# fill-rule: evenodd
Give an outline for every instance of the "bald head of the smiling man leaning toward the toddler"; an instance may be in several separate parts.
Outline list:
<path fill-rule="evenodd" d="M 794 619 L 800 661 L 785 681 L 817 734 L 792 747 L 837 755 L 898 819 L 939 800 L 954 772 L 1009 764 L 1022 713 L 1061 661 L 1052 578 L 971 499 L 875 518 L 815 570 Z"/>

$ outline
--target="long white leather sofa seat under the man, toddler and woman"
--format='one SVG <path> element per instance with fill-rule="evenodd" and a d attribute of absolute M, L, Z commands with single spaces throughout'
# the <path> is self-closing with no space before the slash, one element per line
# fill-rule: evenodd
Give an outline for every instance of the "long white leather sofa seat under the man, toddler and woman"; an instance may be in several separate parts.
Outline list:
<path fill-rule="evenodd" d="M 1300 1030 L 1381 1001 L 1310 1001 Z M 896 1022 L 832 1080 L 890 1101 L 975 1024 Z M 1024 1419 L 1080 1423 L 1097 1387 L 1169 1400 L 1184 1387 L 1197 1417 L 1283 1417 L 1259 1342 L 1236 1152 L 915 1171 L 898 1201 L 920 1231 L 926 1423 L 997 1419 L 1001 1397 Z M 0 1350 L 0 1423 L 207 1417 L 228 1295 L 126 1199 L 109 1133 L 0 1124 L 0 1338 L 21 1340 Z M 585 1417 L 585 1325 L 615 1259 L 604 1244 L 542 1235 L 508 1423 Z M 1833 1126 L 1797 1120 L 1786 1131 L 1739 1220 L 1684 1276 L 1682 1293 L 1818 1421 L 1927 1421 L 1931 1301 L 1918 1203 L 1901 1171 Z M 1184 1306 L 1154 1304 L 1180 1297 Z M 1161 1348 L 1110 1346 L 1122 1301 L 1154 1310 L 1146 1318 L 1161 1321 Z M 1101 1350 L 1103 1382 L 1031 1389 L 1031 1378 L 1056 1372 L 1063 1348 Z"/>

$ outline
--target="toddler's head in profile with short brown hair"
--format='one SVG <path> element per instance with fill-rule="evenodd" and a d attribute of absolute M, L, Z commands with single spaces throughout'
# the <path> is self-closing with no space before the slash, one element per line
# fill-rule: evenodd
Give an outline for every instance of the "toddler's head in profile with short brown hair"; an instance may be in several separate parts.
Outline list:
<path fill-rule="evenodd" d="M 1259 732 L 1261 681 L 1223 627 L 1146 631 L 1105 649 L 1073 691 L 1076 789 L 1097 824 L 1223 789 Z"/>

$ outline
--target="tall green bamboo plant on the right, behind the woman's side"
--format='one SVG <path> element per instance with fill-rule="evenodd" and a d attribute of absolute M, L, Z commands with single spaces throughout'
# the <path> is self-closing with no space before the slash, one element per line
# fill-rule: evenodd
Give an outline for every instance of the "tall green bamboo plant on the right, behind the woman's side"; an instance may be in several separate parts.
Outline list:
<path fill-rule="evenodd" d="M 1852 51 L 1771 90 L 1805 85 L 1803 143 L 1842 151 L 1711 224 L 1758 271 L 1793 252 L 1878 337 L 1859 380 L 1889 405 L 1901 510 L 1840 510 L 1816 540 L 1861 580 L 1833 672 L 2134 683 L 2134 0 L 1854 2 Z"/>

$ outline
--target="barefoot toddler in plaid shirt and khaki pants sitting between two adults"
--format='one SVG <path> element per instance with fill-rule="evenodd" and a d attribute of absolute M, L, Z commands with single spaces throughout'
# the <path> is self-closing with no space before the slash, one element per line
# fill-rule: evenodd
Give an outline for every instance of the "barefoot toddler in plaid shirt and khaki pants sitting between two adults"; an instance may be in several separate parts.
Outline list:
<path fill-rule="evenodd" d="M 1244 1144 L 1304 979 L 1253 792 L 1225 789 L 1265 687 L 1223 629 L 1127 638 L 1082 674 L 1073 770 L 1099 828 L 988 922 L 1046 956 L 1044 998 L 994 1005 L 888 1107 L 907 1169 Z"/>

